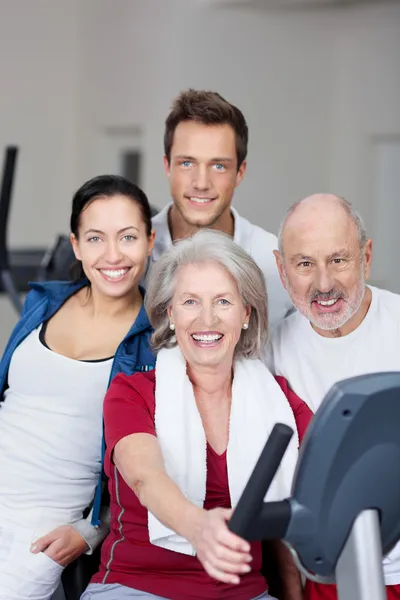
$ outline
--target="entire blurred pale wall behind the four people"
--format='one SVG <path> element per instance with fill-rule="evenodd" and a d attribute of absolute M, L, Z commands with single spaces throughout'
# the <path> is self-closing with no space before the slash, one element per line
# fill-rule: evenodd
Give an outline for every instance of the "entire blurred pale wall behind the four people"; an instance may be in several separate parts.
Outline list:
<path fill-rule="evenodd" d="M 400 6 L 384 2 L 280 12 L 199 0 L 0 0 L 0 140 L 23 150 L 11 242 L 47 244 L 68 229 L 72 190 L 98 172 L 110 126 L 141 129 L 143 187 L 162 207 L 164 119 L 189 86 L 219 91 L 248 120 L 248 173 L 235 199 L 245 216 L 276 231 L 289 204 L 329 190 L 352 200 L 373 232 L 374 140 L 400 134 L 399 63 Z"/>

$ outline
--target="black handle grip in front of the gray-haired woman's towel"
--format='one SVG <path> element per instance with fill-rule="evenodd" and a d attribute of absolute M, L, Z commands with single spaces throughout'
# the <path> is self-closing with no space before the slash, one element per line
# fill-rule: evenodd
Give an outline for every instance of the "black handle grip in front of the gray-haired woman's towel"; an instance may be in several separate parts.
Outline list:
<path fill-rule="evenodd" d="M 263 509 L 264 496 L 275 477 L 292 435 L 293 430 L 287 425 L 283 423 L 274 425 L 271 435 L 261 452 L 260 458 L 229 521 L 228 527 L 233 533 L 247 539 L 260 539 L 260 537 L 254 538 L 257 529 L 256 522 L 262 514 L 263 521 L 265 520 L 265 510 L 268 514 L 268 504 Z M 288 508 L 284 508 L 283 511 L 280 509 L 281 512 L 279 514 L 287 527 L 288 519 L 290 518 L 290 507 L 286 501 L 283 501 L 284 503 L 287 504 Z M 281 502 L 272 504 L 283 506 Z M 273 512 L 273 518 L 275 519 L 276 517 L 277 513 Z"/>

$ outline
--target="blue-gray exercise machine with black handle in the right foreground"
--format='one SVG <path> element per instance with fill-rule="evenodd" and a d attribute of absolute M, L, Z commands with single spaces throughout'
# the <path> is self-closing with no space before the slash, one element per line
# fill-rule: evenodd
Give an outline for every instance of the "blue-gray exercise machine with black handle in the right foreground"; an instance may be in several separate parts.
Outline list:
<path fill-rule="evenodd" d="M 303 440 L 292 496 L 264 502 L 293 434 L 275 425 L 229 522 L 282 539 L 300 571 L 340 600 L 386 600 L 382 555 L 400 539 L 400 373 L 335 384 Z"/>

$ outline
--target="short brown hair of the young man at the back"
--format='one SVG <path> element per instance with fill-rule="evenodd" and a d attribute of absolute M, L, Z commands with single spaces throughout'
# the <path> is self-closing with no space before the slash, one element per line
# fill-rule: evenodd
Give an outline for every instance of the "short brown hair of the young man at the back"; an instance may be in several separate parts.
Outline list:
<path fill-rule="evenodd" d="M 171 161 L 175 129 L 182 121 L 196 121 L 204 125 L 230 125 L 236 137 L 237 168 L 247 156 L 249 130 L 243 113 L 217 92 L 186 90 L 175 98 L 165 121 L 164 153 Z"/>

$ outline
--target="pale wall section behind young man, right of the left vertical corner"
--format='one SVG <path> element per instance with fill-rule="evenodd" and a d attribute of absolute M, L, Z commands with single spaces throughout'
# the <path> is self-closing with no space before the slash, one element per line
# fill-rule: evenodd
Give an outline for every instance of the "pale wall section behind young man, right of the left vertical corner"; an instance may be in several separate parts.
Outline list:
<path fill-rule="evenodd" d="M 193 86 L 220 91 L 250 127 L 236 205 L 276 231 L 308 193 L 346 195 L 373 225 L 373 134 L 400 133 L 400 6 L 240 10 L 198 0 L 88 0 L 83 80 L 86 156 L 106 125 L 140 124 L 144 187 L 163 206 L 163 122 Z M 156 18 L 155 18 L 156 15 Z M 107 40 L 107 43 L 105 43 Z"/>

